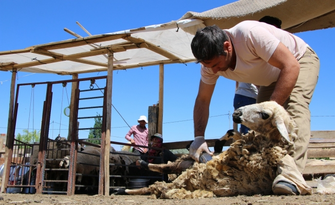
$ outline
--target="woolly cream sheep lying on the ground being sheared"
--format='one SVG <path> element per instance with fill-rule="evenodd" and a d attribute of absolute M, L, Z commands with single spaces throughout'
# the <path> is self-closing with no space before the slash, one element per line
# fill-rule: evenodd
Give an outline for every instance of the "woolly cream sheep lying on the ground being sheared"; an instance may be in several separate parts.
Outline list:
<path fill-rule="evenodd" d="M 206 164 L 189 164 L 191 168 L 172 183 L 156 182 L 148 188 L 120 192 L 132 195 L 151 193 L 169 199 L 271 193 L 277 163 L 293 149 L 297 131 L 294 121 L 274 101 L 241 107 L 234 112 L 233 120 L 253 131 L 246 135 L 229 131 L 221 139 L 239 139 L 228 150 L 214 156 Z M 184 163 L 182 161 L 147 166 L 156 171 L 173 173 L 178 165 Z"/>

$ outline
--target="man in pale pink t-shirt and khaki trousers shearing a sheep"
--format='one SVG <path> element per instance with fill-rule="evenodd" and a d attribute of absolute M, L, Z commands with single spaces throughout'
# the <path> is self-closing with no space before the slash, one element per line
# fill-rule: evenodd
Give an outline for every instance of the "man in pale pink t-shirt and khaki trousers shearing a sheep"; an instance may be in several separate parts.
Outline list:
<path fill-rule="evenodd" d="M 317 54 L 299 37 L 266 23 L 248 20 L 231 29 L 208 26 L 198 30 L 191 48 L 201 63 L 201 80 L 194 105 L 195 139 L 190 155 L 209 151 L 204 133 L 209 106 L 219 76 L 260 86 L 256 103 L 273 100 L 295 120 L 299 131 L 291 155 L 296 170 L 305 168 L 310 138 L 309 104 L 317 85 L 320 62 Z M 279 170 L 279 169 L 278 169 Z M 279 174 L 275 194 L 297 195 L 299 185 Z"/>

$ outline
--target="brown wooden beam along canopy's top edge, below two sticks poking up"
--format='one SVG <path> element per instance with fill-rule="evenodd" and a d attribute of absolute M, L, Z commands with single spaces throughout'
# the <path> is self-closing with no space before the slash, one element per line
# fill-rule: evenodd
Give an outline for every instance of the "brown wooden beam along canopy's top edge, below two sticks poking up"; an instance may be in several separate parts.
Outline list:
<path fill-rule="evenodd" d="M 116 40 L 116 39 L 124 38 L 126 36 L 127 36 L 126 34 L 94 35 L 94 36 L 88 36 L 88 37 L 83 37 L 83 38 L 63 40 L 61 42 L 41 44 L 41 45 L 33 46 L 33 48 L 39 48 L 39 49 L 44 49 L 44 50 L 55 50 L 55 49 L 70 48 L 70 47 L 76 47 L 76 46 L 84 46 L 87 44 L 106 42 L 108 40 Z"/>

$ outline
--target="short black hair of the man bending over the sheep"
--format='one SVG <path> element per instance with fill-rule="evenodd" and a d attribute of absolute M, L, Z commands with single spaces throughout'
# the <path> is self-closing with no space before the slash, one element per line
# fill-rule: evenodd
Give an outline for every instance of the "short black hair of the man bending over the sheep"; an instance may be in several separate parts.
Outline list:
<path fill-rule="evenodd" d="M 196 63 L 202 60 L 211 60 L 220 55 L 226 56 L 224 43 L 228 39 L 226 32 L 216 25 L 198 29 L 191 43 L 192 53 L 197 59 Z"/>

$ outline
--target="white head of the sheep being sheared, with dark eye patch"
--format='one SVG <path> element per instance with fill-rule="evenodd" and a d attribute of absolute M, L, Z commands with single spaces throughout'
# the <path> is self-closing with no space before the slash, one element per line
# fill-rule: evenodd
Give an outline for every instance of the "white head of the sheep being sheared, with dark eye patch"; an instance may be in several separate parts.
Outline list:
<path fill-rule="evenodd" d="M 290 145 L 296 138 L 295 122 L 275 101 L 241 107 L 233 113 L 233 121 L 270 139 L 283 137 Z"/>

